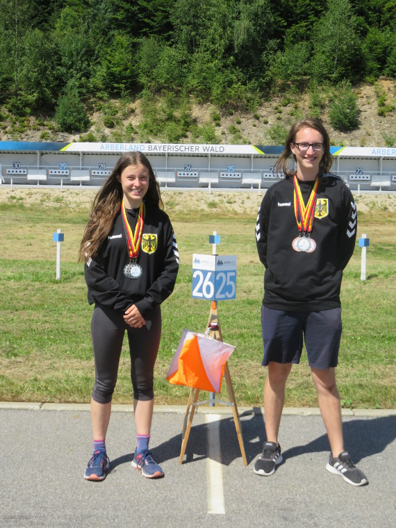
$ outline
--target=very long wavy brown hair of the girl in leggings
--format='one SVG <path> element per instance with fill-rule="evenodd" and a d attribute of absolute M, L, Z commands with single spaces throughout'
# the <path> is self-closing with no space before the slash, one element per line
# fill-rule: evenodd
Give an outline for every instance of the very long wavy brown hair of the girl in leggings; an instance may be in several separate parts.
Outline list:
<path fill-rule="evenodd" d="M 149 171 L 149 188 L 143 200 L 145 205 L 163 207 L 160 186 L 158 181 L 156 181 L 153 167 L 151 167 L 151 163 L 145 154 L 140 151 L 123 154 L 117 161 L 110 176 L 108 176 L 104 186 L 94 198 L 90 220 L 88 220 L 83 240 L 81 240 L 79 261 L 86 262 L 90 257 L 95 256 L 102 242 L 106 240 L 108 233 L 110 233 L 115 217 L 121 211 L 123 192 L 119 180 L 121 179 L 122 171 L 129 165 L 144 165 Z"/>

